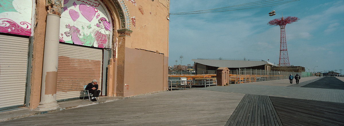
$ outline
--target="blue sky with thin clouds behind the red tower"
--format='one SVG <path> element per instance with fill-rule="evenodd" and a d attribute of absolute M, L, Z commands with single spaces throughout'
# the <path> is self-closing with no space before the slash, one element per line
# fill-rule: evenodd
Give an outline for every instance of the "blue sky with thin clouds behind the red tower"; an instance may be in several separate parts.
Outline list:
<path fill-rule="evenodd" d="M 171 0 L 170 13 L 234 6 L 259 0 Z M 271 10 L 276 15 L 269 16 Z M 344 69 L 344 1 L 300 0 L 278 6 L 203 14 L 170 15 L 169 65 L 192 59 L 257 59 L 278 64 L 280 28 L 267 23 L 283 17 L 290 65 L 306 71 Z M 340 73 L 340 71 L 337 71 Z M 342 71 L 344 73 L 344 71 Z"/>

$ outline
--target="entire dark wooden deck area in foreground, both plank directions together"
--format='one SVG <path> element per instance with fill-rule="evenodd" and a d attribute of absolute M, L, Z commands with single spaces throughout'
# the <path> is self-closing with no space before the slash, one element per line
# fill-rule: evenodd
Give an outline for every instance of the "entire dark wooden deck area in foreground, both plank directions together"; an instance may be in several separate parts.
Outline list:
<path fill-rule="evenodd" d="M 344 104 L 246 94 L 225 126 L 344 126 Z"/>

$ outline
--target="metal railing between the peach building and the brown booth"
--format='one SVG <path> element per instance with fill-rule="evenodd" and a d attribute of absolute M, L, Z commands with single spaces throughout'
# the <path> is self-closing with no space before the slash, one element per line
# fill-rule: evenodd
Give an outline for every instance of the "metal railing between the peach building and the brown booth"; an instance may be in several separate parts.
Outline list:
<path fill-rule="evenodd" d="M 216 85 L 216 78 L 210 79 L 198 79 L 198 80 L 176 80 L 176 81 L 168 81 L 168 90 L 172 91 L 172 88 L 184 88 L 186 87 L 191 88 L 192 86 L 215 86 Z"/>

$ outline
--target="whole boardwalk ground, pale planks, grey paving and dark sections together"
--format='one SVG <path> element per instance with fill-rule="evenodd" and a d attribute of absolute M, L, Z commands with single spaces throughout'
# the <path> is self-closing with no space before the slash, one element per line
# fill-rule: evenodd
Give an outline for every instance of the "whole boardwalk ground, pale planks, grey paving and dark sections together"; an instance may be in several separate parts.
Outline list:
<path fill-rule="evenodd" d="M 309 78 L 302 78 L 304 85 L 307 81 L 310 83 L 321 81 L 323 77 Z M 314 79 L 318 80 L 314 81 Z M 286 83 L 289 83 L 288 80 L 166 91 L 8 120 L 1 122 L 0 125 L 224 126 L 228 124 L 239 126 L 256 124 L 259 126 L 260 123 L 265 126 L 326 126 L 344 124 L 344 90 L 287 87 L 290 84 Z M 272 86 L 274 84 L 284 86 Z M 66 104 L 72 103 L 71 101 Z"/>

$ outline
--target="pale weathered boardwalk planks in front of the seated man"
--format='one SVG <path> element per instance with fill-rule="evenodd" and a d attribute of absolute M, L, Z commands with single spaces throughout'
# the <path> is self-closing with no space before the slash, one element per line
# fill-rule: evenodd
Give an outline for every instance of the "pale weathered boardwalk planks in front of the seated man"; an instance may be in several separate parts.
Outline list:
<path fill-rule="evenodd" d="M 1 122 L 10 126 L 224 126 L 245 94 L 176 90 Z"/>

